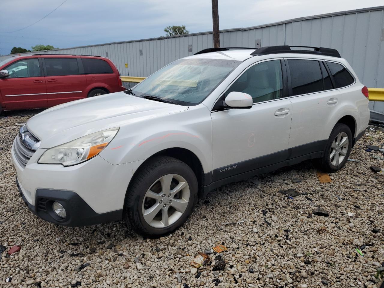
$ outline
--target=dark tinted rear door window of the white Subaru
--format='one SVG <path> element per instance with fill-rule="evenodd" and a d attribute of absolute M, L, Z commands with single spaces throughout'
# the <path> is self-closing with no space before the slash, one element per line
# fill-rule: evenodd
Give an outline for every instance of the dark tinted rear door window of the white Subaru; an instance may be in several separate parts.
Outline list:
<path fill-rule="evenodd" d="M 288 59 L 292 96 L 323 91 L 319 61 Z"/>

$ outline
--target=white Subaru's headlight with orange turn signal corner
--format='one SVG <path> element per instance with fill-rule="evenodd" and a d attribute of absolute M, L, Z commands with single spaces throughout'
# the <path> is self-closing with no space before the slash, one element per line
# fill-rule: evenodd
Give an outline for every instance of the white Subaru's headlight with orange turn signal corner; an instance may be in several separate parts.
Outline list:
<path fill-rule="evenodd" d="M 103 151 L 118 131 L 119 127 L 115 127 L 50 148 L 43 153 L 38 163 L 71 166 L 87 161 Z"/>

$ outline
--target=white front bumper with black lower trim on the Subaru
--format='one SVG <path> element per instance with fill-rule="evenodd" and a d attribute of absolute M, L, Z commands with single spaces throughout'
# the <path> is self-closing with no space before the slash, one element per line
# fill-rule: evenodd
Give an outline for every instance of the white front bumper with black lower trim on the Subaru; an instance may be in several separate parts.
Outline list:
<path fill-rule="evenodd" d="M 86 226 L 122 219 L 127 187 L 144 160 L 113 165 L 96 156 L 69 167 L 38 164 L 44 151 L 38 149 L 22 167 L 12 146 L 17 186 L 24 202 L 35 215 L 66 226 Z M 53 212 L 54 201 L 63 205 L 66 218 Z"/>

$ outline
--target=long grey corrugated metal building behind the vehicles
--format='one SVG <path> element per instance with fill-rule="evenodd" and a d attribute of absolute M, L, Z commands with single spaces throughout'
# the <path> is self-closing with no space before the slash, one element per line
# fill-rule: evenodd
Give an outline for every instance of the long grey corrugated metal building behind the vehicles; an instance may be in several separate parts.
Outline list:
<path fill-rule="evenodd" d="M 384 6 L 220 31 L 222 47 L 260 44 L 335 48 L 348 60 L 362 83 L 384 88 Z M 209 31 L 39 53 L 100 55 L 110 58 L 123 76 L 146 77 L 174 60 L 212 46 L 213 36 Z M 0 60 L 7 57 L 0 56 Z M 384 102 L 371 102 L 370 108 L 384 112 Z"/>

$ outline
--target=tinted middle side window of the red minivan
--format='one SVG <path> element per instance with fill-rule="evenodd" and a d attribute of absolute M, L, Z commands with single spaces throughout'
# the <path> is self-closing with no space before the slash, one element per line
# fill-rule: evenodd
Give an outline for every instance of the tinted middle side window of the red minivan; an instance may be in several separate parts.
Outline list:
<path fill-rule="evenodd" d="M 76 58 L 44 58 L 46 76 L 79 75 Z"/>

